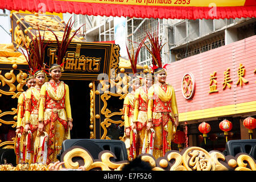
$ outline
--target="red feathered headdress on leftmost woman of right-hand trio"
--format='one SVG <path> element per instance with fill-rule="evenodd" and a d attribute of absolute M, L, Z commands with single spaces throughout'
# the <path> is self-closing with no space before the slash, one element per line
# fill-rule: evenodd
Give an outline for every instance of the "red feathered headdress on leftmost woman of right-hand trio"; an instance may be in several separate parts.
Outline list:
<path fill-rule="evenodd" d="M 133 70 L 133 79 L 132 79 L 131 83 L 133 83 L 134 81 L 139 79 L 139 77 L 137 77 L 137 61 L 138 61 L 139 51 L 141 51 L 141 48 L 142 48 L 143 43 L 144 43 L 145 40 L 146 40 L 146 38 L 144 38 L 142 40 L 142 42 L 139 43 L 139 46 L 137 47 L 135 55 L 134 55 L 133 43 L 131 43 L 131 55 L 130 55 L 130 52 L 129 52 L 127 46 L 126 46 L 127 54 L 129 56 L 129 60 L 130 60 L 130 63 L 131 63 L 131 69 Z"/>

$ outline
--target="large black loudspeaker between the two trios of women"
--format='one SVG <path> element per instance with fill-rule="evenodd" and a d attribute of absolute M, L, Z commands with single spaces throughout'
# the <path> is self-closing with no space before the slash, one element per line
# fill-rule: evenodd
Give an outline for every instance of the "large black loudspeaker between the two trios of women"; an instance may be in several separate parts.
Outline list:
<path fill-rule="evenodd" d="M 80 146 L 88 150 L 93 159 L 98 159 L 98 154 L 101 151 L 109 150 L 115 154 L 117 159 L 113 160 L 114 162 L 119 162 L 127 159 L 127 151 L 125 143 L 121 140 L 104 140 L 104 139 L 67 139 L 62 143 L 62 149 L 58 155 L 60 156 L 72 146 Z"/>

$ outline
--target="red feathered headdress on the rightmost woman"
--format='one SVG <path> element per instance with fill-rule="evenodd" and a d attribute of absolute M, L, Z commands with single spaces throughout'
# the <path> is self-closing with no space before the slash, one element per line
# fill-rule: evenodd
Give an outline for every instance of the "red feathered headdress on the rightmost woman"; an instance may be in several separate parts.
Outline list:
<path fill-rule="evenodd" d="M 166 44 L 164 43 L 162 45 L 162 40 L 159 41 L 158 32 L 154 32 L 154 34 L 150 34 L 150 32 L 147 32 L 148 40 L 150 40 L 151 48 L 147 47 L 146 44 L 145 47 L 148 52 L 152 55 L 152 65 L 151 67 L 155 73 L 159 73 L 161 71 L 164 71 L 164 68 L 166 68 L 167 64 L 162 66 L 162 57 L 161 57 L 161 51 L 163 46 Z"/>

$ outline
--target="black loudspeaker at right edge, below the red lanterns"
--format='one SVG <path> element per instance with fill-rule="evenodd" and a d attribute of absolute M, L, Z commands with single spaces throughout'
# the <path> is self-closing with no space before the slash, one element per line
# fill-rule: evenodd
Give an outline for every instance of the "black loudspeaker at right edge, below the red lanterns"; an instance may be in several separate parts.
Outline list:
<path fill-rule="evenodd" d="M 229 140 L 226 143 L 225 155 L 236 156 L 244 152 L 256 159 L 256 139 Z"/>

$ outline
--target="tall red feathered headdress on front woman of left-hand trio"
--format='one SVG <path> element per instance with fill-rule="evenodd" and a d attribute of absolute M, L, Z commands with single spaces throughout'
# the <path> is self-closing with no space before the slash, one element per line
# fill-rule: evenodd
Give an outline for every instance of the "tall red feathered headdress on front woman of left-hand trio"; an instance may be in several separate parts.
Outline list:
<path fill-rule="evenodd" d="M 71 22 L 71 18 L 69 18 L 68 23 L 65 26 L 65 30 L 64 30 L 64 34 L 63 34 L 63 38 L 62 38 L 61 42 L 59 41 L 57 35 L 52 30 L 49 30 L 55 36 L 55 39 L 56 39 L 56 42 L 57 42 L 57 51 L 56 51 L 57 60 L 56 60 L 56 63 L 58 64 L 55 67 L 50 68 L 49 71 L 51 71 L 52 69 L 56 69 L 56 68 L 61 68 L 61 72 L 64 71 L 63 70 L 63 65 L 64 65 L 63 58 L 65 57 L 65 53 L 67 52 L 68 46 L 71 43 L 72 39 L 78 34 L 77 32 L 83 26 L 82 25 L 80 28 L 78 28 L 74 32 L 74 34 L 71 36 L 72 27 L 75 23 L 75 21 Z"/>

